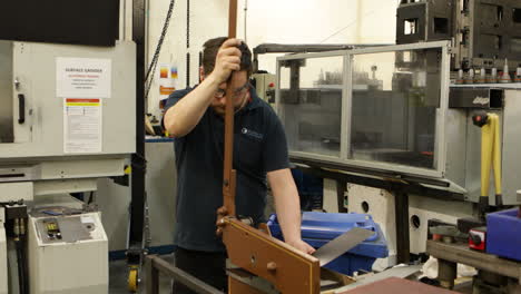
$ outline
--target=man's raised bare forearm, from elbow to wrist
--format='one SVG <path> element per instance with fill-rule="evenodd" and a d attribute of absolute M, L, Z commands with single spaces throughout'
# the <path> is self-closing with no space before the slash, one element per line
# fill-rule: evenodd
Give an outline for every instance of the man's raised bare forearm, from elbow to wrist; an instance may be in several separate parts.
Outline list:
<path fill-rule="evenodd" d="M 165 127 L 174 137 L 183 137 L 199 122 L 212 102 L 218 84 L 208 76 L 197 88 L 165 114 Z"/>

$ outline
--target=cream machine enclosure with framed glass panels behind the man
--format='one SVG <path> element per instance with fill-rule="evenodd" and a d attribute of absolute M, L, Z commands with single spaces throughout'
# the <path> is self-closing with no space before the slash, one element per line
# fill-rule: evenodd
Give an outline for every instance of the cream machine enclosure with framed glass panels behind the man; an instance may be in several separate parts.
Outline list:
<path fill-rule="evenodd" d="M 438 41 L 278 58 L 276 108 L 292 158 L 476 203 L 481 130 L 472 116 L 488 109 L 501 121 L 503 203 L 519 204 L 521 85 L 450 85 L 450 50 Z"/>

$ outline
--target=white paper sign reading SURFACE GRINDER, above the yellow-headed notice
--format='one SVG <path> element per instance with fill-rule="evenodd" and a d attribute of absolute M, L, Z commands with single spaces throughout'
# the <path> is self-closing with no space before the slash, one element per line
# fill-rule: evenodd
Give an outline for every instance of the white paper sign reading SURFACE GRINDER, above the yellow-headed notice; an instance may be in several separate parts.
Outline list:
<path fill-rule="evenodd" d="M 110 98 L 111 60 L 56 59 L 56 95 L 67 98 Z"/>

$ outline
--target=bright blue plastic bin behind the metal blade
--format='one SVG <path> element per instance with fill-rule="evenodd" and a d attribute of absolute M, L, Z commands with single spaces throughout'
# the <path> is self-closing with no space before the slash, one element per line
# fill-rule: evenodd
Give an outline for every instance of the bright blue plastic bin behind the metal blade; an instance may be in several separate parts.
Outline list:
<path fill-rule="evenodd" d="M 272 215 L 267 224 L 274 237 L 284 239 L 276 215 Z M 385 237 L 371 215 L 305 212 L 302 215 L 301 234 L 311 246 L 320 248 L 353 227 L 373 231 L 374 235 L 325 265 L 326 268 L 352 275 L 361 270 L 371 271 L 376 258 L 389 255 Z"/>

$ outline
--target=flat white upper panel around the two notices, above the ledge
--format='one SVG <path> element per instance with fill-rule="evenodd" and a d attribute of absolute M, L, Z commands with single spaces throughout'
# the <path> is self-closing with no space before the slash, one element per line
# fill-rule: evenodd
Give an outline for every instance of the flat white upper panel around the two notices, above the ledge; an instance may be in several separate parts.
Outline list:
<path fill-rule="evenodd" d="M 71 156 L 63 151 L 63 98 L 57 97 L 57 58 L 110 60 L 110 98 L 101 99 L 101 153 L 107 156 L 135 151 L 134 42 L 118 41 L 116 47 L 109 48 L 10 41 L 0 41 L 0 46 L 2 52 L 11 53 L 11 59 L 2 58 L 6 63 L 0 65 L 2 70 L 11 69 L 11 75 L 2 75 L 4 79 L 9 79 L 2 80 L 0 99 L 12 105 L 14 137 L 12 144 L 0 144 L 0 159 L 21 161 L 23 158 L 26 163 L 28 158 L 31 161 L 41 161 L 41 157 Z M 26 98 L 23 124 L 18 121 L 18 95 Z M 8 114 L 3 114 L 2 118 L 7 116 Z"/>

